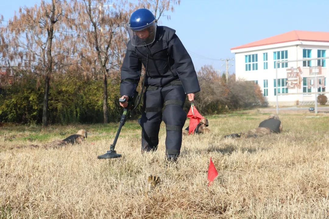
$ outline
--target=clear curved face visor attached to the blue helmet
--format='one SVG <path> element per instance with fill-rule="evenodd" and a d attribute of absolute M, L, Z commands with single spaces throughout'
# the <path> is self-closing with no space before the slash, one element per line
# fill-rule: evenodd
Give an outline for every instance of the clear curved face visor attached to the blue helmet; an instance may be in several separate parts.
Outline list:
<path fill-rule="evenodd" d="M 146 46 L 154 42 L 155 33 L 157 30 L 157 22 L 139 28 L 130 28 L 129 22 L 126 24 L 130 37 L 130 42 L 133 46 Z"/>

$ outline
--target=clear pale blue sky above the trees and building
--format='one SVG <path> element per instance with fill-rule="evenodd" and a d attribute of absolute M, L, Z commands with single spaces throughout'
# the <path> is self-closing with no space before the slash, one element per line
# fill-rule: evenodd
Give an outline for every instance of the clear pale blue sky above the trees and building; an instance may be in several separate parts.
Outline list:
<path fill-rule="evenodd" d="M 3 0 L 0 14 L 8 20 L 20 6 L 39 0 Z M 212 65 L 225 70 L 231 48 L 292 30 L 329 32 L 328 0 L 181 0 L 159 25 L 176 30 L 196 70 Z M 4 22 L 3 24 L 6 24 Z M 230 61 L 234 64 L 234 61 Z M 233 73 L 235 66 L 229 68 Z"/>

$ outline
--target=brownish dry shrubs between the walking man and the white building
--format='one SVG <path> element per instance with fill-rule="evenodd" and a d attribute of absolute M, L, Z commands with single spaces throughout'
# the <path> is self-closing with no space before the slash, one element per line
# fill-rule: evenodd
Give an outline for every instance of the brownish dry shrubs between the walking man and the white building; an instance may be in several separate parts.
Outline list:
<path fill-rule="evenodd" d="M 194 102 L 197 109 L 205 115 L 267 106 L 260 86 L 253 81 L 236 80 L 233 74 L 230 75 L 227 83 L 226 78 L 220 77 L 218 72 L 209 65 L 201 67 L 198 79 L 201 91 L 196 94 Z M 188 103 L 185 108 L 189 108 Z"/>

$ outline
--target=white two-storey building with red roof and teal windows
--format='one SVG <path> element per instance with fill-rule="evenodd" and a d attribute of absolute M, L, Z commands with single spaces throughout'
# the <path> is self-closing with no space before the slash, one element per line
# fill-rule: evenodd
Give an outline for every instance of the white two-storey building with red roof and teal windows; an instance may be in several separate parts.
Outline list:
<path fill-rule="evenodd" d="M 329 33 L 311 31 L 291 31 L 231 48 L 236 79 L 255 81 L 270 105 L 275 105 L 276 93 L 287 94 L 278 95 L 279 105 L 314 103 L 316 94 L 310 93 L 316 92 L 315 85 L 318 92 L 325 92 L 329 59 L 292 60 L 326 57 L 327 51 Z M 287 60 L 291 62 L 276 63 Z"/>

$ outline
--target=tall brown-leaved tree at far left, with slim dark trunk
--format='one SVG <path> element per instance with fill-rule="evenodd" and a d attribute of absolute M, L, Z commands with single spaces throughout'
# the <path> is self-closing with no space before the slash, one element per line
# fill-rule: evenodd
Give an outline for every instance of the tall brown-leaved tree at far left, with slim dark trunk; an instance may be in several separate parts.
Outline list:
<path fill-rule="evenodd" d="M 41 0 L 40 6 L 19 8 L 2 36 L 8 40 L 8 65 L 44 76 L 42 127 L 48 125 L 49 81 L 53 72 L 53 42 L 63 17 L 65 0 Z M 4 53 L 4 48 L 0 48 Z M 10 64 L 11 63 L 11 64 Z"/>

